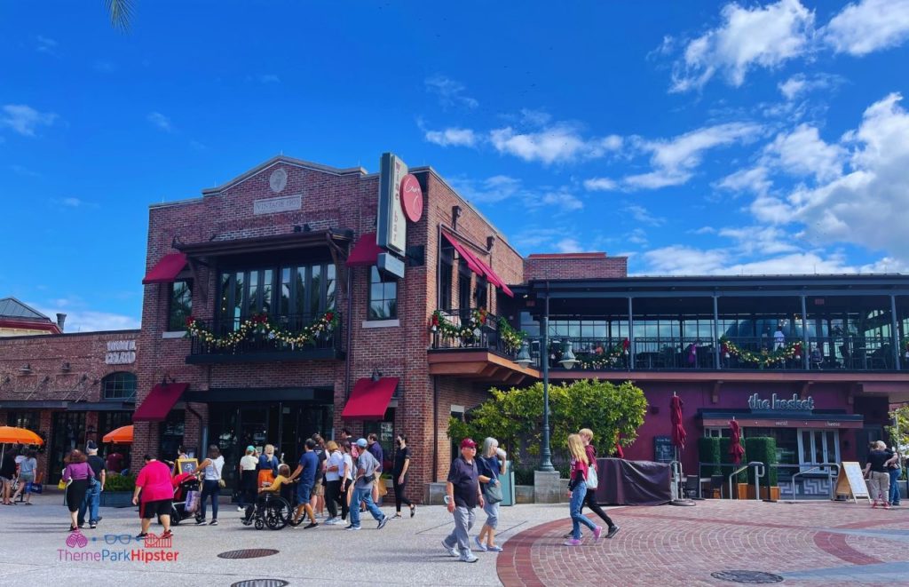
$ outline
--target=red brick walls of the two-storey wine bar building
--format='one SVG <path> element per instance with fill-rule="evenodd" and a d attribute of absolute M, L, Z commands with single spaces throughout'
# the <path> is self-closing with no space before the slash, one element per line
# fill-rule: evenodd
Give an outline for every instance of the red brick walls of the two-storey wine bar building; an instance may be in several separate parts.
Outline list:
<path fill-rule="evenodd" d="M 268 178 L 276 167 L 283 167 L 288 180 L 280 194 L 273 194 Z M 223 191 L 206 191 L 205 197 L 182 203 L 152 206 L 149 215 L 148 256 L 150 268 L 165 254 L 173 252 L 174 238 L 180 243 L 208 242 L 248 238 L 265 234 L 288 234 L 295 225 L 309 224 L 314 230 L 349 228 L 355 232 L 354 242 L 364 233 L 374 232 L 378 205 L 378 176 L 358 171 L 332 173 L 322 168 L 308 167 L 302 162 L 278 160 L 245 180 L 229 184 Z M 365 327 L 367 310 L 368 268 L 351 270 L 350 293 L 346 292 L 345 266 L 337 267 L 338 286 L 336 306 L 343 315 L 345 328 L 352 329 L 346 361 L 350 365 L 350 384 L 360 377 L 369 376 L 377 368 L 385 376 L 401 379 L 402 395 L 395 410 L 395 428 L 411 440 L 414 460 L 408 493 L 421 499 L 423 486 L 430 481 L 433 462 L 433 438 L 445 438 L 447 418 L 451 403 L 473 405 L 483 397 L 482 392 L 471 390 L 455 400 L 440 403 L 440 419 L 434 425 L 434 387 L 428 374 L 426 349 L 430 345 L 428 323 L 436 309 L 436 267 L 438 263 L 439 224 L 451 225 L 452 206 L 460 205 L 464 211 L 457 233 L 466 242 L 477 244 L 474 253 L 494 267 L 508 283 L 521 283 L 524 265 L 514 249 L 504 241 L 484 218 L 476 213 L 460 196 L 454 194 L 445 182 L 429 168 L 415 169 L 425 192 L 425 213 L 418 223 L 408 223 L 407 245 L 425 246 L 425 264 L 408 266 L 405 279 L 398 283 L 399 325 L 375 328 Z M 278 195 L 303 194 L 303 207 L 299 211 L 279 214 L 253 214 L 256 199 Z M 494 237 L 491 252 L 486 252 L 486 237 Z M 197 275 L 194 285 L 193 313 L 206 320 L 215 314 L 215 274 L 205 267 Z M 475 283 L 475 282 L 474 282 Z M 203 288 L 207 294 L 204 299 Z M 178 382 L 190 384 L 194 391 L 234 387 L 282 386 L 331 386 L 335 390 L 335 430 L 346 426 L 361 433 L 363 423 L 342 422 L 340 415 L 346 402 L 347 388 L 344 361 L 308 361 L 298 363 L 248 363 L 187 365 L 185 357 L 190 343 L 185 339 L 165 339 L 162 333 L 166 324 L 165 284 L 145 286 L 141 345 L 150 350 L 143 355 L 139 365 L 140 401 L 147 391 L 163 377 L 173 377 Z M 353 303 L 347 315 L 348 295 Z M 456 297 L 454 298 L 456 299 Z M 494 295 L 490 298 L 494 312 Z M 255 397 L 255 391 L 251 392 Z M 447 404 L 445 404 L 447 402 Z M 445 405 L 443 405 L 445 404 Z M 205 414 L 205 404 L 193 404 L 195 410 Z M 185 442 L 199 443 L 200 426 L 190 425 L 195 418 L 187 411 Z M 205 417 L 207 415 L 205 414 Z M 195 434 L 195 436 L 191 436 Z M 144 447 L 157 446 L 157 426 L 144 423 L 136 425 L 135 458 L 144 453 Z M 439 443 L 448 459 L 447 440 Z M 440 453 L 440 458 L 442 453 Z M 138 464 L 135 463 L 134 466 Z M 447 473 L 447 464 L 440 475 Z"/>

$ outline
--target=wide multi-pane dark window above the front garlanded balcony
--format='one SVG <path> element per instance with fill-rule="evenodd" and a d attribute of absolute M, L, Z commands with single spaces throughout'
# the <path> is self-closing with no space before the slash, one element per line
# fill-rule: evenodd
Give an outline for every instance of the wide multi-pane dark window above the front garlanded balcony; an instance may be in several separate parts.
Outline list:
<path fill-rule="evenodd" d="M 233 328 L 254 313 L 281 317 L 305 326 L 335 308 L 335 264 L 288 264 L 275 268 L 224 271 L 220 284 L 220 319 Z"/>

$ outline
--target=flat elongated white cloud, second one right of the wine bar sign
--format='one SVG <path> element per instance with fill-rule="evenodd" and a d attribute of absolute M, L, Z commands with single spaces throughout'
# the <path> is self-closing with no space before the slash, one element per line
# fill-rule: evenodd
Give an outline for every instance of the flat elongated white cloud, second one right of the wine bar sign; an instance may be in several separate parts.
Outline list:
<path fill-rule="evenodd" d="M 622 137 L 584 138 L 573 124 L 557 123 L 535 132 L 521 133 L 511 126 L 494 129 L 489 140 L 499 153 L 544 164 L 595 159 L 622 148 Z"/>

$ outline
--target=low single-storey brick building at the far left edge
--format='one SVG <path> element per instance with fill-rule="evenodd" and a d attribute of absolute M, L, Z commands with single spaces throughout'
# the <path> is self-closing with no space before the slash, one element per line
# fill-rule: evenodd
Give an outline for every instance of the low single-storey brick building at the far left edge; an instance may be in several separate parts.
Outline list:
<path fill-rule="evenodd" d="M 0 338 L 0 423 L 44 439 L 38 471 L 45 480 L 60 478 L 67 452 L 88 440 L 100 445 L 130 423 L 138 338 L 137 330 Z M 121 348 L 134 350 L 114 350 Z"/>

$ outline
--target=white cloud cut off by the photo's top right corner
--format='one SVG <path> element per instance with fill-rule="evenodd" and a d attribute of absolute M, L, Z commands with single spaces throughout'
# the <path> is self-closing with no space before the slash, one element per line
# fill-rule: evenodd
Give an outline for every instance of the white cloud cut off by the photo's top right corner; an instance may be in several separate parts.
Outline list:
<path fill-rule="evenodd" d="M 822 31 L 836 53 L 867 55 L 909 38 L 909 0 L 862 0 L 847 5 Z"/>

